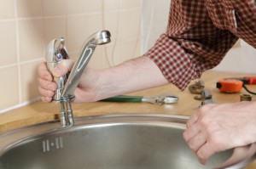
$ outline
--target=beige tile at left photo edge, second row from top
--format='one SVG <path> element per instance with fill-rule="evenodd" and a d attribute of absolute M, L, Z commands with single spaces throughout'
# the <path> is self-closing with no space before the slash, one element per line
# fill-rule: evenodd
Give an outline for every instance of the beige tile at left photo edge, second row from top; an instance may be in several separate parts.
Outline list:
<path fill-rule="evenodd" d="M 0 22 L 0 66 L 17 63 L 15 21 Z"/>

